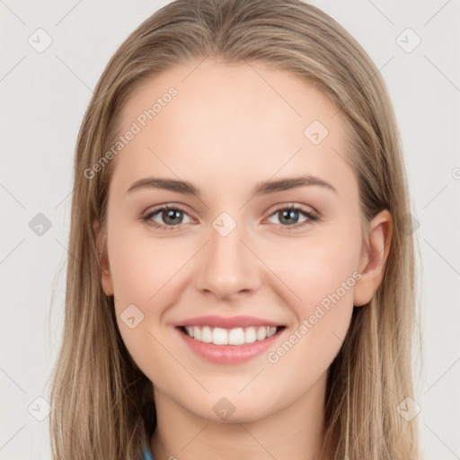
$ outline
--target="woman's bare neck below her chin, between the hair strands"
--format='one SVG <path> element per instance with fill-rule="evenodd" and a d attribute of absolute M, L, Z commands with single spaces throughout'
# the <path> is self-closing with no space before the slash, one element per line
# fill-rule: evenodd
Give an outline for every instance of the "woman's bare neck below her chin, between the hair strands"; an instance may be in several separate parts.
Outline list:
<path fill-rule="evenodd" d="M 261 419 L 216 422 L 177 405 L 155 388 L 157 424 L 152 437 L 156 460 L 328 460 L 323 452 L 326 375 L 300 399 Z"/>

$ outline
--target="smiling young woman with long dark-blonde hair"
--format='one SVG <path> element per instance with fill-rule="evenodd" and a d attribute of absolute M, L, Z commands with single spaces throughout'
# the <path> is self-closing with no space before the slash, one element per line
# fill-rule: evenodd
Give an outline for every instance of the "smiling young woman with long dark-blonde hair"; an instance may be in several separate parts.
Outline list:
<path fill-rule="evenodd" d="M 337 22 L 164 6 L 77 141 L 54 458 L 418 458 L 409 212 L 385 84 Z"/>

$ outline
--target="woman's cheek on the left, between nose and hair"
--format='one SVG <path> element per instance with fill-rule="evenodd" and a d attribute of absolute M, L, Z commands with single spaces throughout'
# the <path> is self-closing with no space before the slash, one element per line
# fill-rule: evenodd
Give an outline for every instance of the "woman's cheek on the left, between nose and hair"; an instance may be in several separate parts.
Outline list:
<path fill-rule="evenodd" d="M 196 248 L 179 238 L 175 241 L 151 238 L 145 231 L 139 234 L 128 226 L 113 224 L 108 249 L 119 332 L 137 365 L 156 381 L 159 376 L 152 375 L 155 368 L 172 365 L 171 355 L 161 345 L 163 315 L 181 293 L 178 287 L 184 273 L 181 270 Z M 171 344 L 168 350 L 178 353 Z M 181 374 L 180 368 L 176 371 Z"/>

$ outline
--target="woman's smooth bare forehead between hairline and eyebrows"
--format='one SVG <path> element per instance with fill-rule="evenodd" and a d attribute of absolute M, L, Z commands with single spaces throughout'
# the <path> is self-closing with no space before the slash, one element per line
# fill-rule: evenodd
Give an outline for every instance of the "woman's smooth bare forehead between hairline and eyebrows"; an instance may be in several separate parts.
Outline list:
<path fill-rule="evenodd" d="M 175 66 L 131 95 L 120 134 L 137 131 L 112 181 L 149 173 L 244 184 L 274 174 L 352 180 L 341 114 L 313 84 L 285 70 L 206 59 Z"/>

